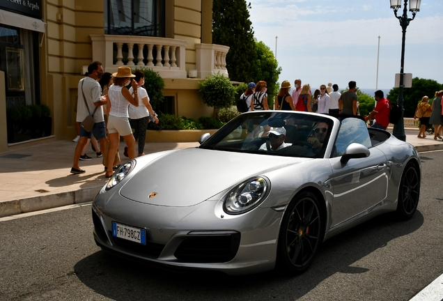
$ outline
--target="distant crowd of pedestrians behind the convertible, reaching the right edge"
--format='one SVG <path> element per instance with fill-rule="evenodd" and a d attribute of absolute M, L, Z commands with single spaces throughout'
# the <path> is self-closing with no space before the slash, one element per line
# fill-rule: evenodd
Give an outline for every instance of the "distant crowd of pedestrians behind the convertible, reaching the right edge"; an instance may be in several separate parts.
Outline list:
<path fill-rule="evenodd" d="M 257 84 L 251 82 L 248 89 L 240 96 L 240 101 L 246 102 L 244 109 L 239 111 L 254 111 L 270 109 L 267 102 L 266 82 L 260 81 Z M 260 85 L 260 86 L 259 86 Z M 257 88 L 259 87 L 259 88 Z M 302 85 L 302 79 L 295 79 L 294 88 L 290 93 L 290 82 L 287 80 L 281 83 L 281 88 L 275 98 L 274 109 L 309 111 L 320 114 L 346 114 L 360 115 L 359 101 L 357 95 L 357 83 L 350 81 L 348 90 L 339 92 L 337 84 L 322 84 L 320 90 L 316 89 L 311 96 L 311 86 Z M 418 137 L 426 137 L 425 131 L 429 125 L 433 125 L 434 139 L 443 141 L 443 90 L 435 92 L 435 98 L 430 105 L 428 96 L 423 96 L 421 102 L 417 105 L 414 119 L 419 118 L 421 128 Z M 377 102 L 373 111 L 364 116 L 366 122 L 371 123 L 371 128 L 380 128 L 386 130 L 389 123 L 397 123 L 400 116 L 398 107 L 392 107 L 391 102 L 384 97 L 381 90 L 375 91 L 374 98 Z M 391 113 L 394 109 L 394 113 Z M 394 117 L 394 115 L 396 117 Z"/>

